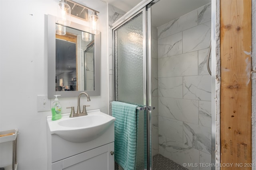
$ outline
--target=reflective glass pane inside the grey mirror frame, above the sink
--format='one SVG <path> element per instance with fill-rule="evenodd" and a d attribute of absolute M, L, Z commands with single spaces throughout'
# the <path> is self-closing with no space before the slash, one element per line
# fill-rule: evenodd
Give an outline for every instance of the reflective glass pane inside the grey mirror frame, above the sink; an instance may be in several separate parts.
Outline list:
<path fill-rule="evenodd" d="M 56 91 L 84 90 L 94 90 L 94 35 L 66 27 L 56 34 Z"/>

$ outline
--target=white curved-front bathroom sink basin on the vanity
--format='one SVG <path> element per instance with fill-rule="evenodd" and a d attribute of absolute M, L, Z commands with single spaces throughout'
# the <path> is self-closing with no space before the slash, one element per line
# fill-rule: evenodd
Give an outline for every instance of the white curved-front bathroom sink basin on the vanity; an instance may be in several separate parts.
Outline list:
<path fill-rule="evenodd" d="M 51 135 L 56 134 L 70 142 L 88 142 L 102 135 L 116 120 L 100 109 L 89 110 L 87 113 L 88 115 L 80 117 L 69 117 L 70 113 L 65 113 L 55 121 L 52 121 L 52 116 L 47 116 Z"/>

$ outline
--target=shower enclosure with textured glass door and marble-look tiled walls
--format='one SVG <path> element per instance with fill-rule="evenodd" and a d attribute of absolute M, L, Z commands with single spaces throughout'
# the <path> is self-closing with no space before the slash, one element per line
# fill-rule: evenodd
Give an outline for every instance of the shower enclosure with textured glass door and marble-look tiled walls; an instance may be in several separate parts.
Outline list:
<path fill-rule="evenodd" d="M 140 3 L 112 27 L 113 100 L 142 109 L 137 170 L 215 169 L 207 70 L 211 3 L 179 1 Z M 168 10 L 177 12 L 168 16 Z"/>

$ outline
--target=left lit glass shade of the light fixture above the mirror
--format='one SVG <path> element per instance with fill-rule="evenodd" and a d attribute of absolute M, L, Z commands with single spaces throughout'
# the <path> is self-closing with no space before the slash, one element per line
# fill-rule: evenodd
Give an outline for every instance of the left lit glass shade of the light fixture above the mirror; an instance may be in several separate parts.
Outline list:
<path fill-rule="evenodd" d="M 60 8 L 58 9 L 58 19 L 57 23 L 61 25 L 70 26 L 71 25 L 71 9 L 65 0 L 59 2 Z"/>

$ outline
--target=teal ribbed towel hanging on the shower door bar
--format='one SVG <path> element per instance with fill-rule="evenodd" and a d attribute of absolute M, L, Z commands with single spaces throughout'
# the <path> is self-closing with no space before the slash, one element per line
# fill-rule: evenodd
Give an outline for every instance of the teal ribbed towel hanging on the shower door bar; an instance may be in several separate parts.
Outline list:
<path fill-rule="evenodd" d="M 115 121 L 115 161 L 124 170 L 134 170 L 136 162 L 136 115 L 133 104 L 112 102 Z"/>

